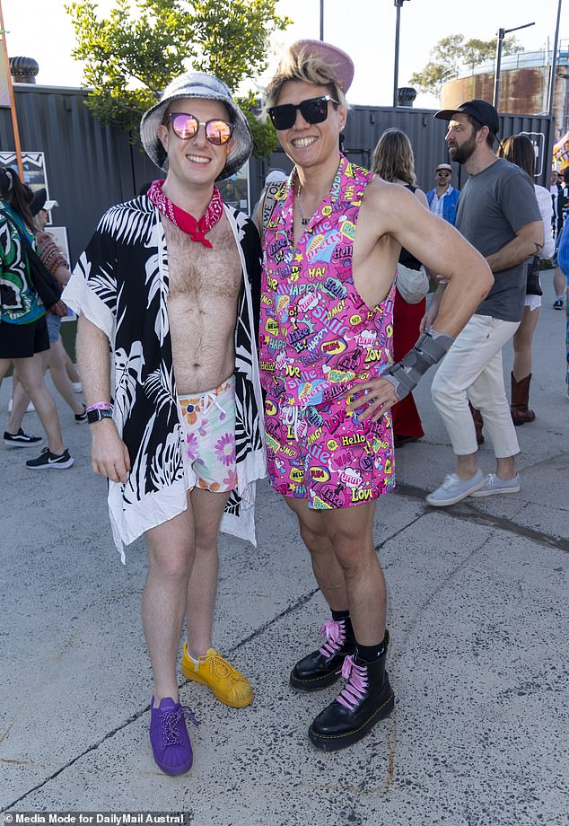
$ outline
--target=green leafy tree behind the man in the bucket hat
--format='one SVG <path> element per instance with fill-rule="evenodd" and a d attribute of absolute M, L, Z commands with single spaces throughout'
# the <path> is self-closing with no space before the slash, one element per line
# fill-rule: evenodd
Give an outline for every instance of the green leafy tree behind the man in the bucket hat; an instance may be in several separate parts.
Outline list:
<path fill-rule="evenodd" d="M 216 75 L 232 89 L 267 67 L 267 44 L 291 22 L 277 0 L 116 0 L 107 19 L 95 0 L 66 6 L 75 30 L 72 52 L 84 61 L 87 106 L 104 124 L 128 129 L 133 141 L 144 111 L 171 79 L 193 69 Z M 243 99 L 254 137 L 253 154 L 276 146 L 270 122 L 255 116 L 255 94 Z"/>

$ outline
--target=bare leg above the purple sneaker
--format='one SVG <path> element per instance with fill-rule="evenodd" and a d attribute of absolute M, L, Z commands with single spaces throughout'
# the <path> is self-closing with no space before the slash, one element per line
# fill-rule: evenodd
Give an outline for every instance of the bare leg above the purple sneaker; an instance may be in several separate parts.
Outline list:
<path fill-rule="evenodd" d="M 154 703 L 178 701 L 176 657 L 188 578 L 194 562 L 194 517 L 188 509 L 145 534 L 148 576 L 141 606 L 144 637 L 153 668 Z"/>

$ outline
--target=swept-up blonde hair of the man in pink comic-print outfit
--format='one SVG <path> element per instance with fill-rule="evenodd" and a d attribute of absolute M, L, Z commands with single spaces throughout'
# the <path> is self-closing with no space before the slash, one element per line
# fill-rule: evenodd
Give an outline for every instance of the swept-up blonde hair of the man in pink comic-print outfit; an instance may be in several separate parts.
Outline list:
<path fill-rule="evenodd" d="M 340 82 L 334 67 L 322 57 L 311 52 L 310 48 L 293 43 L 282 57 L 276 70 L 276 75 L 267 86 L 267 109 L 276 105 L 278 96 L 285 83 L 289 80 L 313 83 L 315 86 L 326 86 L 332 97 L 342 106 L 349 109 L 346 95 L 340 88 Z"/>

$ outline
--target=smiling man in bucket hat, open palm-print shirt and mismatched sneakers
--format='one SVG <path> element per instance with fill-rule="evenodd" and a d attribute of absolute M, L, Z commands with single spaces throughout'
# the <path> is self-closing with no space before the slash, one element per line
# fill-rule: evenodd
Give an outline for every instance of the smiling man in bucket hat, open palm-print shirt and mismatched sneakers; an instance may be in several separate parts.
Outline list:
<path fill-rule="evenodd" d="M 123 543 L 143 533 L 146 540 L 150 739 L 160 768 L 178 775 L 191 766 L 186 720 L 195 722 L 178 696 L 184 615 L 185 676 L 226 705 L 252 699 L 211 637 L 220 523 L 255 541 L 255 480 L 265 473 L 253 297 L 259 249 L 253 224 L 214 186 L 240 169 L 252 145 L 224 83 L 181 75 L 144 114 L 141 136 L 166 179 L 103 215 L 66 302 L 81 314 L 92 466 L 109 479 L 115 540 L 121 553 Z"/>

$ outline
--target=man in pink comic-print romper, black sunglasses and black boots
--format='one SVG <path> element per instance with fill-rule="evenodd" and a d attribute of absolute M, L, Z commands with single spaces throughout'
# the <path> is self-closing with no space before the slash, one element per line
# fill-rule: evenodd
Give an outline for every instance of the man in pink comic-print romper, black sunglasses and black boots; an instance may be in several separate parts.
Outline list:
<path fill-rule="evenodd" d="M 344 748 L 390 714 L 387 593 L 373 541 L 376 500 L 394 485 L 390 407 L 438 362 L 488 291 L 486 262 L 407 189 L 348 162 L 351 59 L 319 40 L 289 48 L 267 110 L 291 177 L 263 220 L 259 347 L 271 483 L 299 520 L 332 617 L 296 663 L 295 690 L 346 686 L 309 729 Z M 392 364 L 401 247 L 449 279 L 436 330 Z"/>

